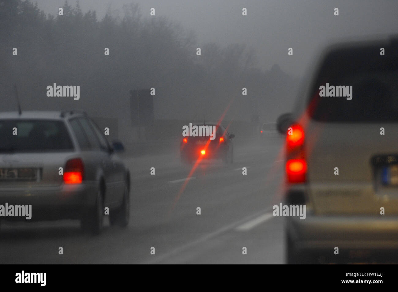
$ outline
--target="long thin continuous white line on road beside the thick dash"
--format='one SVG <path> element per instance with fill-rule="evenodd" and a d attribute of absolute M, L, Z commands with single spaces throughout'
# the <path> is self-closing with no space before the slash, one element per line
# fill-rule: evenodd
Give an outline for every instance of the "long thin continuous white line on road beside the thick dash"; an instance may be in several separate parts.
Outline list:
<path fill-rule="evenodd" d="M 189 249 L 190 247 L 193 247 L 193 246 L 195 246 L 195 245 L 198 245 L 199 243 L 202 243 L 202 242 L 207 241 L 207 240 L 209 240 L 209 239 L 211 239 L 211 238 L 213 238 L 213 237 L 216 237 L 217 235 L 220 235 L 221 233 L 224 233 L 225 231 L 228 231 L 228 230 L 230 230 L 230 229 L 233 229 L 234 227 L 236 227 L 236 226 L 242 224 L 243 222 L 246 222 L 246 221 L 248 221 L 248 220 L 251 220 L 252 218 L 256 218 L 256 217 L 258 217 L 260 214 L 264 214 L 265 212 L 269 212 L 270 210 L 271 210 L 271 208 L 267 208 L 267 209 L 265 209 L 265 210 L 262 210 L 262 211 L 260 211 L 260 212 L 257 212 L 256 214 L 247 216 L 247 217 L 244 218 L 244 219 L 241 219 L 241 220 L 236 221 L 236 222 L 234 222 L 234 223 L 232 223 L 232 224 L 229 224 L 229 225 L 227 225 L 227 226 L 225 226 L 225 227 L 222 227 L 222 228 L 220 228 L 220 229 L 218 229 L 218 230 L 216 230 L 216 231 L 214 231 L 214 232 L 212 232 L 212 233 L 209 233 L 208 235 L 205 235 L 205 236 L 203 236 L 203 237 L 201 237 L 201 238 L 199 238 L 199 239 L 197 239 L 197 240 L 191 241 L 190 243 L 187 243 L 187 244 L 185 244 L 185 245 L 182 245 L 182 246 L 180 246 L 180 247 L 177 247 L 176 249 L 173 249 L 172 251 L 170 251 L 170 252 L 168 252 L 168 253 L 165 253 L 165 254 L 163 254 L 163 255 L 158 255 L 158 256 L 156 256 L 156 259 L 152 259 L 152 260 L 150 260 L 150 261 L 147 261 L 145 264 L 154 264 L 154 263 L 158 263 L 158 262 L 163 261 L 163 260 L 165 260 L 165 259 L 168 259 L 168 258 L 170 258 L 170 257 L 172 257 L 172 256 L 178 255 L 178 254 L 180 254 L 181 252 L 185 251 L 186 249 Z"/>

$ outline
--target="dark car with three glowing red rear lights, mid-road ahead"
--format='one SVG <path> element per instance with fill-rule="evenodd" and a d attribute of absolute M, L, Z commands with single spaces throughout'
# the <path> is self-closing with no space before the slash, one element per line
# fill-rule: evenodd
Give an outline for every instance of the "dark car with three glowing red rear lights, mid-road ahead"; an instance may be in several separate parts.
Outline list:
<path fill-rule="evenodd" d="M 222 159 L 224 163 L 234 162 L 234 145 L 232 138 L 223 125 L 217 123 L 193 123 L 197 126 L 215 126 L 215 139 L 209 137 L 182 137 L 180 155 L 183 163 L 191 164 L 197 159 Z"/>

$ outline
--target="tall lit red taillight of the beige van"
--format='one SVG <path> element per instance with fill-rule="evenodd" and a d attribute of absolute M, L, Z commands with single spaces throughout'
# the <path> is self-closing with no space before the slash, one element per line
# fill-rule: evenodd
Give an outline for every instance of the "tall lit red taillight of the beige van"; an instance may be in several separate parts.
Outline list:
<path fill-rule="evenodd" d="M 306 182 L 307 162 L 304 155 L 304 129 L 292 125 L 286 135 L 286 176 L 290 183 Z"/>

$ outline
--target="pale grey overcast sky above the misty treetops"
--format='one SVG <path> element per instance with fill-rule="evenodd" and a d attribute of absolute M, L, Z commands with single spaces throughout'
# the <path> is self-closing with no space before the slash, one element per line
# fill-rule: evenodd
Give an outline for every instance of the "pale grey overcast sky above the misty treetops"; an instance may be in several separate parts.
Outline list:
<path fill-rule="evenodd" d="M 56 15 L 64 0 L 36 0 L 40 9 Z M 333 39 L 398 33 L 395 0 L 80 0 L 83 12 L 96 10 L 102 19 L 110 5 L 122 15 L 123 4 L 139 3 L 141 14 L 167 16 L 193 29 L 201 43 L 245 43 L 254 47 L 259 67 L 302 76 L 314 54 Z M 69 0 L 74 6 L 76 1 Z M 247 8 L 247 16 L 242 16 Z M 339 8 L 339 16 L 334 16 Z M 155 17 L 156 17 L 155 16 Z M 293 56 L 288 56 L 288 48 Z"/>

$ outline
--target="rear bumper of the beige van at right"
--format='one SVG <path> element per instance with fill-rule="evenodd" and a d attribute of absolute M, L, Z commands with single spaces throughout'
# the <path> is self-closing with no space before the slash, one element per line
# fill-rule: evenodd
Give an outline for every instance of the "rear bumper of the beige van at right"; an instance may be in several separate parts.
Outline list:
<path fill-rule="evenodd" d="M 398 250 L 398 217 L 395 216 L 314 216 L 287 218 L 287 233 L 297 252 L 339 254 L 351 251 Z"/>

